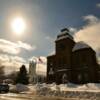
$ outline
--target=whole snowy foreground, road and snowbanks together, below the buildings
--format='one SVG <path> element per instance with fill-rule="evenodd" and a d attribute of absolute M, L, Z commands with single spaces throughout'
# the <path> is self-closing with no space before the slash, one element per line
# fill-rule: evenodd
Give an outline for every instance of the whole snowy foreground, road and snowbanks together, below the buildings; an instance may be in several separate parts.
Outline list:
<path fill-rule="evenodd" d="M 10 85 L 10 93 L 0 100 L 100 100 L 100 84 L 36 84 Z"/>

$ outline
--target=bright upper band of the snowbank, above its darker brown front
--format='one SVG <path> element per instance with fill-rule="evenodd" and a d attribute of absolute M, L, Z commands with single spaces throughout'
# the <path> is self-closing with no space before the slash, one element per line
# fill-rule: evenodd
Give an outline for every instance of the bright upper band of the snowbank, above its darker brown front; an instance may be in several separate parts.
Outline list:
<path fill-rule="evenodd" d="M 100 84 L 99 83 L 88 83 L 83 85 L 77 85 L 73 83 L 67 83 L 67 84 L 60 84 L 56 85 L 55 83 L 52 84 L 29 84 L 29 85 L 23 85 L 23 84 L 17 84 L 17 85 L 10 85 L 10 90 L 15 89 L 19 92 L 22 91 L 34 91 L 34 90 L 41 90 L 44 88 L 48 88 L 50 90 L 58 90 L 58 87 L 60 91 L 95 91 L 100 92 Z"/>

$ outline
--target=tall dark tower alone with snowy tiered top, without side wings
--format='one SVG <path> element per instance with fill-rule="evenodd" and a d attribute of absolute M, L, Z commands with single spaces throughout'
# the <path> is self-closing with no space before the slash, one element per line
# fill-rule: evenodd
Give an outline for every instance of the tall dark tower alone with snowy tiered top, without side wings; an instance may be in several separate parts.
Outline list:
<path fill-rule="evenodd" d="M 55 78 L 58 84 L 63 83 L 64 76 L 66 76 L 66 82 L 71 81 L 72 48 L 74 44 L 75 42 L 70 35 L 70 31 L 67 28 L 62 29 L 55 41 L 57 59 Z"/>

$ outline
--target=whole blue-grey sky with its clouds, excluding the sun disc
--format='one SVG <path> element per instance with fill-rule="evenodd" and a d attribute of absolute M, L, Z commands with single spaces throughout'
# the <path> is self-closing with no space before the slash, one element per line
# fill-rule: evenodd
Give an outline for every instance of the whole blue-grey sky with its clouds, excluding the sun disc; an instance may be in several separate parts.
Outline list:
<path fill-rule="evenodd" d="M 14 18 L 23 18 L 26 29 L 18 35 L 11 29 Z M 100 62 L 99 0 L 0 0 L 0 64 L 6 72 L 28 66 L 54 53 L 55 39 L 62 28 L 69 28 L 75 41 L 84 41 L 97 53 Z"/>

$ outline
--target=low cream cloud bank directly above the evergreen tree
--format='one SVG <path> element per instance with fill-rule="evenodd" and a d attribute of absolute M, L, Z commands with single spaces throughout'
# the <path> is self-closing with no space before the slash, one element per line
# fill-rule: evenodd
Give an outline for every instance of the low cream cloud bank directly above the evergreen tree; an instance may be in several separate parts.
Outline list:
<path fill-rule="evenodd" d="M 18 71 L 22 64 L 27 65 L 26 60 L 22 57 L 0 54 L 0 66 L 4 66 L 5 74 Z"/>

